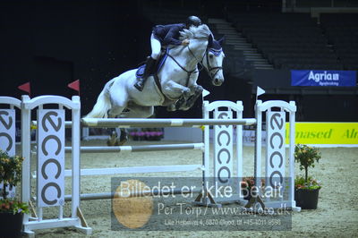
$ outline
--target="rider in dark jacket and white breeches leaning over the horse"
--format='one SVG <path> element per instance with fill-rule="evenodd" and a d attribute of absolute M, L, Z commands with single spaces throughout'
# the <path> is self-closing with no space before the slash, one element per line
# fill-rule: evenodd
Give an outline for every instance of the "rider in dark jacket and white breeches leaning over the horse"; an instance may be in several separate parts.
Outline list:
<path fill-rule="evenodd" d="M 153 28 L 153 31 L 150 36 L 151 55 L 147 60 L 143 76 L 139 78 L 138 81 L 134 84 L 134 87 L 136 89 L 140 91 L 143 90 L 145 81 L 147 80 L 150 72 L 152 72 L 152 69 L 157 63 L 162 45 L 189 45 L 188 39 L 180 41 L 179 37 L 180 31 L 182 31 L 183 29 L 189 29 L 192 25 L 196 27 L 201 25 L 200 18 L 196 16 L 190 16 L 188 17 L 185 24 L 180 23 L 170 25 L 157 25 Z"/>

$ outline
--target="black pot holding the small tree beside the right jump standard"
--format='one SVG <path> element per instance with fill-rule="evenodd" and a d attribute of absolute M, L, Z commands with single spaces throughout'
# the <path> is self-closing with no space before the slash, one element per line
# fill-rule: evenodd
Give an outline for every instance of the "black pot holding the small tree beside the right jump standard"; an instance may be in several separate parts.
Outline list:
<path fill-rule="evenodd" d="M 317 190 L 305 190 L 305 189 L 296 189 L 294 190 L 294 200 L 296 201 L 296 206 L 303 209 L 317 209 L 317 204 L 319 202 L 319 192 Z"/>

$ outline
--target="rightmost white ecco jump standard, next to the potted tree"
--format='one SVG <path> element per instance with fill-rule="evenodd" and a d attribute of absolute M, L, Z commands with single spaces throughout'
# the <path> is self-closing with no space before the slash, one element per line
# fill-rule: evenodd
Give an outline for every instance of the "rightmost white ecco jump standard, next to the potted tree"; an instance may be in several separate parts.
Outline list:
<path fill-rule="evenodd" d="M 279 110 L 273 111 L 272 108 Z M 268 208 L 292 208 L 294 211 L 300 211 L 296 207 L 294 200 L 294 123 L 295 112 L 297 108 L 294 101 L 287 103 L 285 101 L 266 101 L 262 103 L 257 101 L 255 114 L 257 119 L 256 140 L 255 140 L 255 184 L 260 184 L 260 178 L 265 178 L 265 189 L 275 190 L 275 186 L 280 186 L 280 198 L 278 200 L 265 200 L 265 206 Z M 266 158 L 265 174 L 261 174 L 261 146 L 262 140 L 262 113 L 266 112 Z M 286 168 L 286 113 L 289 118 L 289 155 L 288 168 Z M 253 202 L 254 200 L 251 200 Z M 250 204 L 250 202 L 249 202 Z M 248 205 L 249 205 L 248 204 Z"/>

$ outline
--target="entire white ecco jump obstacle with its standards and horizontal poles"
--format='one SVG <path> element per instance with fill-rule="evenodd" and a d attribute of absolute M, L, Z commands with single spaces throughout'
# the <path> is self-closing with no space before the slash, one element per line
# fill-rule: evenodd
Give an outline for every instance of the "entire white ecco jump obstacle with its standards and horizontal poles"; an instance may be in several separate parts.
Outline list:
<path fill-rule="evenodd" d="M 0 98 L 1 99 L 1 98 Z M 1 100 L 0 100 L 1 101 Z M 11 100 L 7 100 L 11 101 Z M 58 109 L 43 109 L 43 105 L 57 105 Z M 203 193 L 195 201 L 198 205 L 220 206 L 222 202 L 245 202 L 242 194 L 235 194 L 229 199 L 215 198 L 207 192 L 205 182 L 210 177 L 220 184 L 236 184 L 240 186 L 240 181 L 233 181 L 233 178 L 243 177 L 243 125 L 257 125 L 256 148 L 255 148 L 255 183 L 259 184 L 260 177 L 267 177 L 266 187 L 274 187 L 276 183 L 282 186 L 282 194 L 279 200 L 269 198 L 264 200 L 264 205 L 268 208 L 292 208 L 295 207 L 294 201 L 294 112 L 296 107 L 294 102 L 258 101 L 255 106 L 256 118 L 243 118 L 242 102 L 216 101 L 209 103 L 204 101 L 203 119 L 96 119 L 83 118 L 81 122 L 81 103 L 79 97 L 72 97 L 72 100 L 57 96 L 41 96 L 30 99 L 28 96 L 22 97 L 21 102 L 21 147 L 22 157 L 25 157 L 22 164 L 22 183 L 21 200 L 30 202 L 31 196 L 31 167 L 30 167 L 30 123 L 31 111 L 38 107 L 38 168 L 37 168 L 37 212 L 38 217 L 25 215 L 23 220 L 24 232 L 34 234 L 33 230 L 53 227 L 74 226 L 86 234 L 91 233 L 91 228 L 86 225 L 81 216 L 80 200 L 106 199 L 111 198 L 111 194 L 92 193 L 80 194 L 81 175 L 102 175 L 102 174 L 143 174 L 158 172 L 183 172 L 183 171 L 202 171 Z M 72 113 L 71 123 L 64 121 L 64 108 Z M 224 110 L 223 110 L 224 109 Z M 261 174 L 261 131 L 262 113 L 266 112 L 268 128 L 267 157 L 265 159 L 265 174 Z M 289 155 L 286 163 L 285 151 L 285 124 L 286 113 L 290 118 L 289 132 Z M 214 119 L 210 119 L 210 115 Z M 205 125 L 203 132 L 203 143 L 194 144 L 175 144 L 175 145 L 150 145 L 150 146 L 122 146 L 114 148 L 104 147 L 81 147 L 80 130 L 82 126 L 89 127 L 200 127 Z M 72 125 L 72 146 L 64 147 L 64 128 Z M 210 136 L 209 125 L 214 126 L 213 152 L 214 157 L 210 158 Z M 234 126 L 236 128 L 234 129 Z M 234 145 L 234 130 L 237 139 Z M 234 146 L 236 155 L 234 155 Z M 197 165 L 176 165 L 176 166 L 135 166 L 135 167 L 115 167 L 115 168 L 89 168 L 81 169 L 81 151 L 83 153 L 103 153 L 103 152 L 140 152 L 140 151 L 159 151 L 177 149 L 201 149 L 203 150 L 202 163 Z M 64 153 L 72 152 L 72 169 L 64 169 Z M 236 165 L 236 166 L 234 166 Z M 286 168 L 286 166 L 288 167 Z M 213 168 L 213 169 L 211 169 Z M 71 176 L 72 194 L 64 194 L 64 177 Z M 288 179 L 285 179 L 288 178 Z M 240 187 L 239 191 L 240 190 Z M 160 192 L 160 191 L 158 191 Z M 175 191 L 173 191 L 175 192 Z M 82 196 L 81 196 L 82 195 Z M 63 205 L 65 200 L 72 200 L 71 217 L 64 217 Z M 252 205 L 255 200 L 251 200 L 248 205 Z M 58 215 L 55 218 L 47 219 L 42 216 L 42 209 L 47 207 L 58 207 Z"/>

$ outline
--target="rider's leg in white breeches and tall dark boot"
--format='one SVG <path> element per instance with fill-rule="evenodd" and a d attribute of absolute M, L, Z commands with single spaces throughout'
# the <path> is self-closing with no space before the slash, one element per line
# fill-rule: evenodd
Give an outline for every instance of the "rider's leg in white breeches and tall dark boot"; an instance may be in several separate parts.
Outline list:
<path fill-rule="evenodd" d="M 150 46 L 151 46 L 151 55 L 149 56 L 146 64 L 146 68 L 143 73 L 143 77 L 139 79 L 135 84 L 134 87 L 140 91 L 144 88 L 144 83 L 147 81 L 147 78 L 149 77 L 150 72 L 152 72 L 154 66 L 157 63 L 158 57 L 160 55 L 160 48 L 161 44 L 160 41 L 151 34 L 150 37 Z"/>

